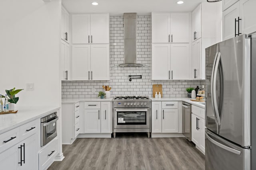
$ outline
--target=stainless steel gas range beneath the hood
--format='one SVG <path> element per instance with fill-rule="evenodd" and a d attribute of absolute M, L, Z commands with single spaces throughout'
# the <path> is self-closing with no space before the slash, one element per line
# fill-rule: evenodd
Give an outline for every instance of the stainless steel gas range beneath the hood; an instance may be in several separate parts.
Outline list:
<path fill-rule="evenodd" d="M 112 100 L 112 131 L 151 133 L 151 100 L 148 96 L 115 96 Z"/>

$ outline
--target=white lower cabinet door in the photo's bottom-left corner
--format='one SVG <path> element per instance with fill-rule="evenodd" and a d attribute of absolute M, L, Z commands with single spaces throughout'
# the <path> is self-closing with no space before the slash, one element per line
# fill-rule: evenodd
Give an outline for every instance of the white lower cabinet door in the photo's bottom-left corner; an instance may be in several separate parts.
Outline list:
<path fill-rule="evenodd" d="M 17 145 L 7 149 L 0 154 L 0 165 L 3 170 L 18 169 L 18 149 Z"/>

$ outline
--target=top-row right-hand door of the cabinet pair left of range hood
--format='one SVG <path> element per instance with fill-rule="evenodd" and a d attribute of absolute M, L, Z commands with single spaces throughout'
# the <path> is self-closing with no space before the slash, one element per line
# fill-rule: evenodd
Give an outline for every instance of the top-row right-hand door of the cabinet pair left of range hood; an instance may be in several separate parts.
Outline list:
<path fill-rule="evenodd" d="M 90 43 L 109 43 L 109 15 L 90 15 Z"/>

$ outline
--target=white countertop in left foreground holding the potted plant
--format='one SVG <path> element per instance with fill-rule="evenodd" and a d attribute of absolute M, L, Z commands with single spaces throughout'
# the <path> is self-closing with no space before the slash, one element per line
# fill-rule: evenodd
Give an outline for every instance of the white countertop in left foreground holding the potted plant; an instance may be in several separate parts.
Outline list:
<path fill-rule="evenodd" d="M 0 115 L 0 134 L 57 111 L 60 107 L 21 107 L 18 113 Z"/>

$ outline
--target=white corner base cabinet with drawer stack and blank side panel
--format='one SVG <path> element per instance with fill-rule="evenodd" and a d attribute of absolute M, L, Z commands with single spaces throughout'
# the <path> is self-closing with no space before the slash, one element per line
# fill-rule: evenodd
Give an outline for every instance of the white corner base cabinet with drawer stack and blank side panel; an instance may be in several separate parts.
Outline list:
<path fill-rule="evenodd" d="M 80 132 L 79 102 L 62 104 L 62 144 L 72 144 Z"/>

